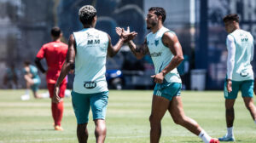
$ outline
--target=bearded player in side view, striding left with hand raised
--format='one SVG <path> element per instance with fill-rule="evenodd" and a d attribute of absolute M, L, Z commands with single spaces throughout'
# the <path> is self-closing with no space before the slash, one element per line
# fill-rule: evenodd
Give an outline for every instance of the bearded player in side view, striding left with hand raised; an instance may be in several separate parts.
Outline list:
<path fill-rule="evenodd" d="M 143 58 L 145 54 L 150 54 L 154 62 L 156 83 L 152 100 L 152 110 L 150 121 L 150 142 L 158 143 L 161 134 L 161 119 L 170 112 L 174 123 L 189 129 L 190 132 L 198 135 L 205 143 L 218 143 L 218 139 L 211 138 L 198 123 L 186 117 L 183 112 L 181 99 L 182 82 L 177 72 L 177 66 L 183 60 L 183 52 L 177 36 L 163 26 L 166 20 L 166 11 L 160 7 L 148 9 L 147 29 L 151 32 L 147 35 L 141 47 L 137 47 L 130 41 L 129 47 L 137 59 Z M 118 34 L 121 29 L 116 28 Z M 125 34 L 129 30 L 125 31 Z"/>

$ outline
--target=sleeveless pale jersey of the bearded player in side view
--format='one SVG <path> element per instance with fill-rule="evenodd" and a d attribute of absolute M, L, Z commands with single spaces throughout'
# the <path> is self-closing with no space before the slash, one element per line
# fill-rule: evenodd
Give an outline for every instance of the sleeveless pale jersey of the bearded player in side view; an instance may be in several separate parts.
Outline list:
<path fill-rule="evenodd" d="M 147 35 L 148 50 L 154 63 L 155 74 L 160 73 L 167 65 L 169 65 L 173 58 L 171 50 L 162 43 L 162 37 L 166 31 L 174 33 L 163 26 L 159 31 L 155 33 L 150 32 Z M 177 68 L 168 72 L 165 79 L 168 83 L 182 83 Z"/>

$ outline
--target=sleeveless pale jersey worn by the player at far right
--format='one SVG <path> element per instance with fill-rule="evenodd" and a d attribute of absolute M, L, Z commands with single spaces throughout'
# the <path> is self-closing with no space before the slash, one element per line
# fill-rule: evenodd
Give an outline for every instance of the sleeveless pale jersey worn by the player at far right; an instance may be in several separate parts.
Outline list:
<path fill-rule="evenodd" d="M 253 80 L 253 36 L 248 31 L 236 30 L 230 33 L 236 44 L 235 65 L 232 80 Z"/>

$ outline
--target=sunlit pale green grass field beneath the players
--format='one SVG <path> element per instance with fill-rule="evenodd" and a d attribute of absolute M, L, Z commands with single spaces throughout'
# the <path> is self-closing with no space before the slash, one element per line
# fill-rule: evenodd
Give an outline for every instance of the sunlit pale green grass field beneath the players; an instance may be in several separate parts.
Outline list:
<path fill-rule="evenodd" d="M 46 90 L 40 90 L 45 92 Z M 62 127 L 55 131 L 50 112 L 50 100 L 21 101 L 24 90 L 0 90 L 0 143 L 75 143 L 76 119 L 71 99 L 65 99 Z M 187 116 L 194 118 L 208 134 L 223 136 L 226 132 L 223 93 L 218 91 L 183 92 L 183 106 Z M 107 143 L 148 143 L 152 91 L 110 90 Z M 256 125 L 243 105 L 236 100 L 236 142 L 255 143 Z M 89 142 L 95 142 L 94 123 L 89 123 Z M 201 140 L 172 122 L 166 112 L 162 121 L 161 143 L 199 143 Z"/>

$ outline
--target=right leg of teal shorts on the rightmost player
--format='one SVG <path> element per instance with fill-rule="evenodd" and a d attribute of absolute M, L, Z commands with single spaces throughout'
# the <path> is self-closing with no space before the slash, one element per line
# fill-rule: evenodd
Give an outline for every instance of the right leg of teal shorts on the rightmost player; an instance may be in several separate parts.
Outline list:
<path fill-rule="evenodd" d="M 243 81 L 241 83 L 241 96 L 253 98 L 253 80 Z"/>

